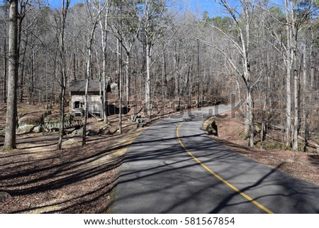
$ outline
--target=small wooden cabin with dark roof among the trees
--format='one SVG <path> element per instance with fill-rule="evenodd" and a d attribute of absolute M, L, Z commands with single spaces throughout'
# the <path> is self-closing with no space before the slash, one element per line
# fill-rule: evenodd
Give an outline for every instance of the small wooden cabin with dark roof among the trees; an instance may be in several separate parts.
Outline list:
<path fill-rule="evenodd" d="M 84 116 L 85 103 L 85 87 L 86 80 L 74 80 L 69 84 L 69 110 L 75 116 Z M 108 85 L 106 91 L 111 92 L 111 87 L 116 88 L 117 85 Z M 88 89 L 88 105 L 89 114 L 91 116 L 102 116 L 102 100 L 103 91 L 100 94 L 100 82 L 97 80 L 90 80 Z"/>

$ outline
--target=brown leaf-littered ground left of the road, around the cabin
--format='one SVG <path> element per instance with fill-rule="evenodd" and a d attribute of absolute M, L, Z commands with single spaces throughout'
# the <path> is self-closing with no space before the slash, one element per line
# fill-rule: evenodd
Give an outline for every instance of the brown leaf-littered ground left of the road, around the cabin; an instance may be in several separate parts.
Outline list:
<path fill-rule="evenodd" d="M 67 135 L 65 140 L 77 143 L 57 151 L 57 133 L 30 133 L 17 136 L 18 149 L 3 152 L 0 139 L 0 213 L 106 213 L 126 148 L 145 129 L 128 120 L 134 111 L 123 117 L 122 135 L 116 133 L 118 115 L 109 116 L 113 135 L 88 136 L 86 146 L 80 136 Z M 18 107 L 19 116 L 40 112 L 43 107 Z M 0 126 L 4 116 L 0 105 Z M 106 126 L 94 118 L 89 122 L 91 131 Z M 4 192 L 10 196 L 2 200 Z"/>

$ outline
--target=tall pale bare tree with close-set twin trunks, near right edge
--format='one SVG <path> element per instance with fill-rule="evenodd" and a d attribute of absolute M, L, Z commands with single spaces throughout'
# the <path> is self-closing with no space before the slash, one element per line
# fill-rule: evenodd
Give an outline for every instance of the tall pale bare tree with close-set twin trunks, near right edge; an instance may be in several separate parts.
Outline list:
<path fill-rule="evenodd" d="M 279 6 L 284 10 L 284 18 L 275 18 L 273 24 L 269 24 L 269 34 L 276 42 L 272 46 L 277 50 L 283 58 L 285 67 L 285 82 L 286 82 L 286 126 L 285 126 L 285 142 L 286 148 L 293 148 L 293 151 L 298 151 L 298 131 L 299 131 L 299 103 L 300 103 L 300 74 L 301 64 L 298 67 L 298 37 L 308 23 L 305 23 L 310 16 L 310 9 L 313 2 L 307 2 L 303 9 L 301 9 L 302 2 L 293 0 L 284 0 L 284 5 Z M 280 11 L 279 11 L 280 12 Z M 302 13 L 301 13 L 302 12 Z M 276 26 L 283 26 L 285 29 L 285 36 L 283 31 L 276 28 Z M 277 45 L 276 45 L 277 44 Z M 280 44 L 280 45 L 278 45 Z M 303 53 L 303 51 L 300 51 Z M 302 62 L 304 60 L 300 60 Z M 305 70 L 305 69 L 303 69 Z M 293 75 L 293 85 L 291 85 Z M 293 100 L 292 100 L 293 98 Z M 293 113 L 292 113 L 293 105 Z M 293 123 L 293 124 L 292 124 Z"/>

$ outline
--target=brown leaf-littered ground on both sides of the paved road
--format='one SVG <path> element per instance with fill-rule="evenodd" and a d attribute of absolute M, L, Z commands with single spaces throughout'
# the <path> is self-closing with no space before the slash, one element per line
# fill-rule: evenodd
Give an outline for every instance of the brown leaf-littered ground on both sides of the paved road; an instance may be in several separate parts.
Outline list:
<path fill-rule="evenodd" d="M 21 108 L 23 112 L 42 110 Z M 0 107 L 0 116 L 4 116 L 1 112 L 4 109 Z M 116 121 L 116 116 L 111 116 L 115 130 Z M 234 119 L 216 123 L 217 140 L 226 146 L 319 185 L 318 154 L 247 148 L 240 139 L 242 124 Z M 18 150 L 2 152 L 0 147 L 0 192 L 11 195 L 0 202 L 0 213 L 106 213 L 125 150 L 142 131 L 129 121 L 124 125 L 125 134 L 89 136 L 83 147 L 79 136 L 73 136 L 78 142 L 62 151 L 56 150 L 57 134 L 25 134 L 18 136 Z M 96 120 L 89 124 L 92 130 L 101 126 Z"/>

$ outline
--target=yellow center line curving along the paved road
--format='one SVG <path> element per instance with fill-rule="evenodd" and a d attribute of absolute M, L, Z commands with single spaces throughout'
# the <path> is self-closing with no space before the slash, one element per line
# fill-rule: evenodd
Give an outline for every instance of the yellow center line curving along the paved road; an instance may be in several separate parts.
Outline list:
<path fill-rule="evenodd" d="M 181 124 L 183 124 L 184 122 L 181 122 Z M 244 192 L 240 191 L 238 188 L 236 188 L 234 185 L 230 184 L 227 180 L 223 179 L 222 177 L 220 177 L 220 175 L 218 175 L 217 173 L 215 173 L 213 170 L 211 170 L 210 168 L 208 168 L 205 164 L 203 164 L 201 161 L 198 160 L 198 158 L 196 158 L 185 146 L 184 144 L 181 142 L 181 139 L 179 138 L 179 127 L 181 126 L 181 124 L 179 124 L 179 126 L 177 126 L 177 139 L 179 139 L 179 143 L 181 144 L 181 146 L 184 148 L 184 150 L 189 153 L 189 156 L 191 156 L 191 158 L 193 158 L 196 162 L 198 162 L 201 166 L 203 166 L 203 168 L 205 168 L 206 170 L 208 170 L 209 173 L 211 173 L 213 176 L 215 176 L 218 180 L 220 180 L 222 183 L 224 183 L 225 185 L 227 185 L 229 188 L 233 189 L 235 192 L 237 192 L 238 194 L 242 195 L 242 197 L 245 197 L 247 200 L 249 200 L 250 202 L 252 202 L 254 205 L 256 205 L 257 207 L 259 207 L 260 209 L 264 210 L 264 212 L 267 212 L 268 214 L 274 214 L 274 212 L 272 212 L 271 210 L 267 209 L 267 207 L 264 207 L 263 205 L 261 205 L 259 202 L 257 202 L 256 200 L 252 199 L 252 197 L 246 195 Z"/>

